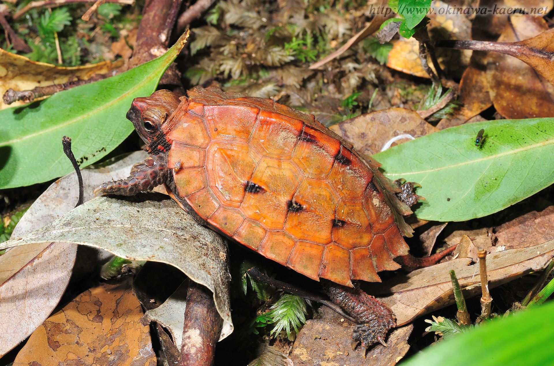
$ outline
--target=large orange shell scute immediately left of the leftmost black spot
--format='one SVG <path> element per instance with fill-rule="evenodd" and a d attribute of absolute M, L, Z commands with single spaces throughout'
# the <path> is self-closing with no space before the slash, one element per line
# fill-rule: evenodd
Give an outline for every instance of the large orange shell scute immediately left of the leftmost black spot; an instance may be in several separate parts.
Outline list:
<path fill-rule="evenodd" d="M 246 143 L 212 143 L 208 148 L 208 179 L 220 202 L 239 207 L 257 163 Z"/>

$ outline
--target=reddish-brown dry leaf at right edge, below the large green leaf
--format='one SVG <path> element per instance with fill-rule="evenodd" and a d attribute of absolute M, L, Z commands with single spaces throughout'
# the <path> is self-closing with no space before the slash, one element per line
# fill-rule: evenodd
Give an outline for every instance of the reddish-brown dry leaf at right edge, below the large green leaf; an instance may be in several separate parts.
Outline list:
<path fill-rule="evenodd" d="M 530 212 L 494 229 L 496 246 L 506 249 L 537 245 L 554 239 L 554 206 Z"/>

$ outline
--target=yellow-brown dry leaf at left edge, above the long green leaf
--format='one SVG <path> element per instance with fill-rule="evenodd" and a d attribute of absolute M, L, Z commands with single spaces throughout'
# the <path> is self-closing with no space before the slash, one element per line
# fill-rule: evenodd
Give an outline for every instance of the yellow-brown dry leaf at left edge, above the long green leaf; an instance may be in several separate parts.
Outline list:
<path fill-rule="evenodd" d="M 16 91 L 31 90 L 36 86 L 63 84 L 74 78 L 89 79 L 93 74 L 106 74 L 118 68 L 122 61 L 104 61 L 94 65 L 62 68 L 43 62 L 31 61 L 26 57 L 0 49 L 0 94 L 12 88 Z M 0 100 L 0 110 L 24 104 L 17 101 L 11 105 Z"/>

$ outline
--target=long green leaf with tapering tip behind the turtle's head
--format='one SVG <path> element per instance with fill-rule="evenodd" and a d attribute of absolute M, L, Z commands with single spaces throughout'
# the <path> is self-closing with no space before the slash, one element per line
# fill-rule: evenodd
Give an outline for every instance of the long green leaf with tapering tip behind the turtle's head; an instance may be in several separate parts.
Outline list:
<path fill-rule="evenodd" d="M 64 135 L 71 137 L 81 167 L 114 150 L 134 130 L 125 118 L 131 101 L 156 90 L 186 39 L 183 35 L 162 56 L 125 73 L 0 111 L 0 189 L 73 171 L 61 147 Z"/>

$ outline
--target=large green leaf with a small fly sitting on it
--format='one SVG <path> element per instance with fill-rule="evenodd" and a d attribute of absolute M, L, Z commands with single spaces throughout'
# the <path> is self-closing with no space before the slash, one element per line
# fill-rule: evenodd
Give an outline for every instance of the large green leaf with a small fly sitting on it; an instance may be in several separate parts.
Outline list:
<path fill-rule="evenodd" d="M 483 146 L 475 146 L 485 129 Z M 418 218 L 465 221 L 490 215 L 554 183 L 554 118 L 469 123 L 375 155 L 384 174 L 421 184 Z"/>

